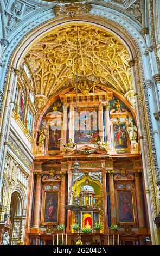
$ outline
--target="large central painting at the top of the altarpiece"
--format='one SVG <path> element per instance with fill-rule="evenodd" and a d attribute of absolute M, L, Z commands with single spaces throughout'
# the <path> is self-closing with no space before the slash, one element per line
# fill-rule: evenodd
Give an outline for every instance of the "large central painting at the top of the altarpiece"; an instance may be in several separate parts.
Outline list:
<path fill-rule="evenodd" d="M 99 141 L 98 108 L 79 107 L 74 117 L 74 142 L 94 144 Z"/>

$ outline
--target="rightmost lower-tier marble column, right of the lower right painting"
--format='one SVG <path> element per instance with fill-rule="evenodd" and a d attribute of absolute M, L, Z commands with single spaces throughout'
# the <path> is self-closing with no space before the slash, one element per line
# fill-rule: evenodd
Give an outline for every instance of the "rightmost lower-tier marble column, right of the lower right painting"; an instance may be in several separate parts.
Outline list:
<path fill-rule="evenodd" d="M 138 212 L 138 223 L 139 227 L 145 227 L 144 214 L 143 214 L 143 203 L 142 193 L 140 190 L 139 173 L 135 173 L 135 188 L 136 188 L 136 200 L 137 200 L 137 212 Z"/>

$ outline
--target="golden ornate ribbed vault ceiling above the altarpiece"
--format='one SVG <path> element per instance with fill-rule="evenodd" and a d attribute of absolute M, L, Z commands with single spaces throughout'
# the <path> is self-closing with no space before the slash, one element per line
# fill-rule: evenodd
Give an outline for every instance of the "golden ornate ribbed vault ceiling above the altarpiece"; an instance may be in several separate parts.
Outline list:
<path fill-rule="evenodd" d="M 125 95 L 132 90 L 129 53 L 113 34 L 98 27 L 71 25 L 46 35 L 25 56 L 36 92 L 47 98 L 87 78 Z"/>

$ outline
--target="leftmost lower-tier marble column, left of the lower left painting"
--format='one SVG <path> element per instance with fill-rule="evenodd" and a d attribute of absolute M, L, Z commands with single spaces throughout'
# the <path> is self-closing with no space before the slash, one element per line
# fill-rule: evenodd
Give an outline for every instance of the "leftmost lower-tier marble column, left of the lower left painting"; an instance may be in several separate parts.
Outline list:
<path fill-rule="evenodd" d="M 36 193 L 35 193 L 35 203 L 34 203 L 33 227 L 39 228 L 42 173 L 37 172 L 35 174 L 37 175 L 37 182 L 36 182 Z"/>

